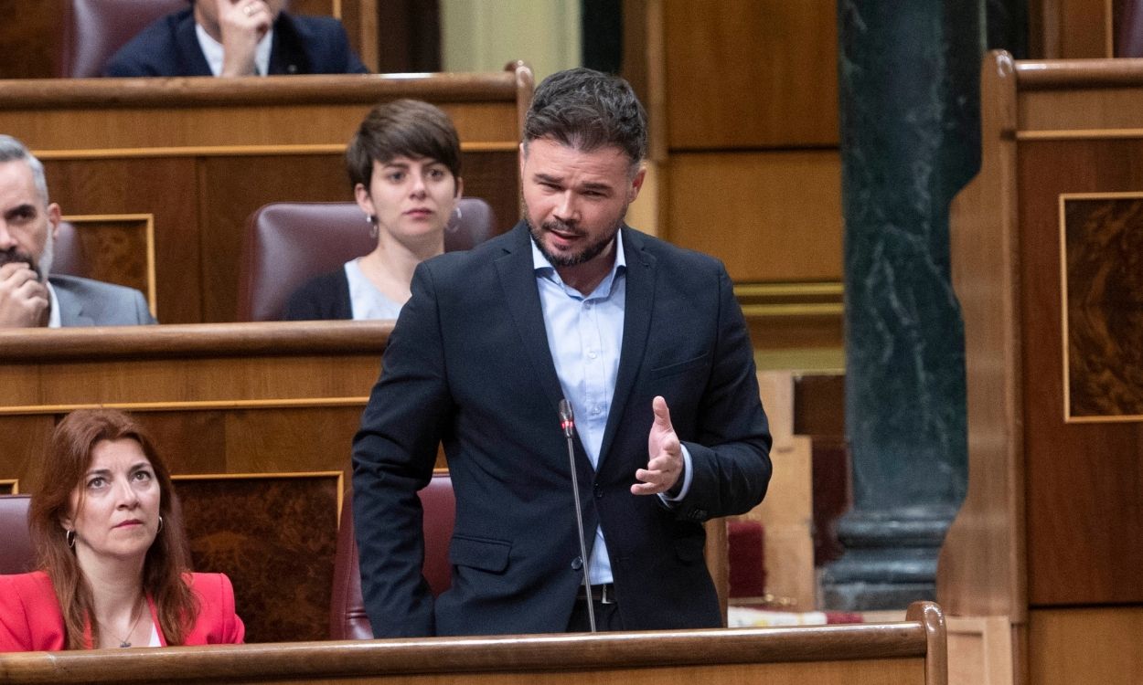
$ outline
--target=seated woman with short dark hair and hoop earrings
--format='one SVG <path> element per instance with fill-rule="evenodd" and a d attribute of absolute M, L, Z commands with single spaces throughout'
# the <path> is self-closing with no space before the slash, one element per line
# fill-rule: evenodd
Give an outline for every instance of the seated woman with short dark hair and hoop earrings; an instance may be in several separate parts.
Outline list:
<path fill-rule="evenodd" d="M 445 231 L 459 211 L 459 137 L 448 114 L 429 103 L 399 99 L 374 107 L 345 161 L 377 247 L 294 292 L 287 321 L 397 319 L 413 271 L 445 251 Z"/>

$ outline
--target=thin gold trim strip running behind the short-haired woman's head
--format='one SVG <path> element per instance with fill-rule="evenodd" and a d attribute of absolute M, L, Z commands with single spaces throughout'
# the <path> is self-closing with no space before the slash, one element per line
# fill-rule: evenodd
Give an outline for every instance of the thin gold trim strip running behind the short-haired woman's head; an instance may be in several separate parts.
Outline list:
<path fill-rule="evenodd" d="M 461 152 L 515 152 L 515 140 L 461 143 Z M 171 156 L 272 156 L 303 154 L 344 154 L 343 143 L 306 143 L 298 145 L 187 145 L 182 147 L 110 147 L 106 150 L 37 150 L 40 160 L 109 160 Z"/>

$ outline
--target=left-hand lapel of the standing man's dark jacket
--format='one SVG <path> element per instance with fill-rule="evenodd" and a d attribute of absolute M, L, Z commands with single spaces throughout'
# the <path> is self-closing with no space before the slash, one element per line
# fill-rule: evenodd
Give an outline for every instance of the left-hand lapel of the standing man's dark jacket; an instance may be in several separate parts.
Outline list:
<path fill-rule="evenodd" d="M 523 341 L 535 371 L 534 377 L 539 380 L 544 394 L 551 401 L 554 416 L 555 408 L 563 398 L 563 389 L 555 374 L 555 363 L 552 361 L 547 331 L 544 329 L 544 312 L 539 306 L 536 272 L 531 264 L 531 239 L 523 221 L 517 224 L 513 233 L 511 248 L 506 248 L 506 253 L 496 260 L 496 269 L 504 289 L 504 301 Z"/>

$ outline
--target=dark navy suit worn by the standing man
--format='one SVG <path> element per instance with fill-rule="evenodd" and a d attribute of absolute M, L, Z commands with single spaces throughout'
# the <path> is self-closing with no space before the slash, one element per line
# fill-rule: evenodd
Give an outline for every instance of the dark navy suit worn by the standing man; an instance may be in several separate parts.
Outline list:
<path fill-rule="evenodd" d="M 770 476 L 753 353 L 717 260 L 623 228 L 618 376 L 592 469 L 576 441 L 584 529 L 602 526 L 625 629 L 717 627 L 703 521 L 749 510 Z M 663 395 L 692 456 L 686 498 L 631 493 Z M 562 631 L 583 580 L 558 404 L 525 224 L 413 280 L 353 446 L 366 609 L 378 636 Z M 442 442 L 456 492 L 453 585 L 421 577 L 415 494 Z M 590 550 L 589 550 L 590 553 Z"/>

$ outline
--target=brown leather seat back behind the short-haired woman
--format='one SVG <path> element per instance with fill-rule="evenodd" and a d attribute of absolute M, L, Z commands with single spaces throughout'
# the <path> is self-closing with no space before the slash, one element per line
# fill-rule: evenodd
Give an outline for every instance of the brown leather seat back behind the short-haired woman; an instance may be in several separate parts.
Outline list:
<path fill-rule="evenodd" d="M 467 250 L 493 234 L 491 207 L 462 198 L 461 218 L 445 232 L 445 250 Z M 353 202 L 274 202 L 246 220 L 238 284 L 239 321 L 277 321 L 289 296 L 376 247 Z"/>

